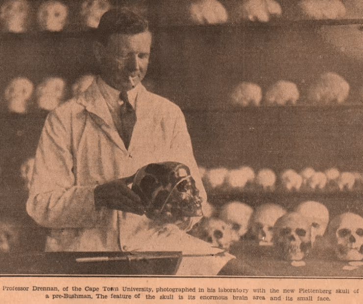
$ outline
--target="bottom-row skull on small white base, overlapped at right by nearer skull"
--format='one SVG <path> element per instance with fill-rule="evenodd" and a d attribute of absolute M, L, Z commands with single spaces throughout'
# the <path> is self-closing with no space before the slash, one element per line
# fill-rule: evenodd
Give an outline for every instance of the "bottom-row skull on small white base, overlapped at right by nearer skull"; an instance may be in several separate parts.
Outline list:
<path fill-rule="evenodd" d="M 264 203 L 255 209 L 251 218 L 251 234 L 260 245 L 272 245 L 274 225 L 285 213 L 283 207 L 272 203 Z"/>

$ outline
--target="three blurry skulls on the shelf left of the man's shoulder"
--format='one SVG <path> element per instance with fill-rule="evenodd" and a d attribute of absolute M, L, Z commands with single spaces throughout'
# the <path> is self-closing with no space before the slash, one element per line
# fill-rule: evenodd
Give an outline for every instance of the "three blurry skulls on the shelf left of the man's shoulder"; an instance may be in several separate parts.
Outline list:
<path fill-rule="evenodd" d="M 72 85 L 72 96 L 77 97 L 84 92 L 93 79 L 93 75 L 79 77 Z M 28 78 L 16 77 L 7 84 L 4 100 L 10 112 L 23 114 L 31 107 L 35 95 L 38 107 L 50 111 L 64 101 L 66 86 L 66 81 L 61 77 L 47 77 L 34 89 L 34 84 Z"/>

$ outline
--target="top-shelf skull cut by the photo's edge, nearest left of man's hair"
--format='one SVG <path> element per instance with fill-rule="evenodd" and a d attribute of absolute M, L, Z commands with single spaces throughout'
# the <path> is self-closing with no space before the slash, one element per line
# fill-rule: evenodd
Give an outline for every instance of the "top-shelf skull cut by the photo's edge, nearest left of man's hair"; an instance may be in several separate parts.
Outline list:
<path fill-rule="evenodd" d="M 102 15 L 111 9 L 111 3 L 108 0 L 86 0 L 82 3 L 81 16 L 85 25 L 97 28 Z"/>

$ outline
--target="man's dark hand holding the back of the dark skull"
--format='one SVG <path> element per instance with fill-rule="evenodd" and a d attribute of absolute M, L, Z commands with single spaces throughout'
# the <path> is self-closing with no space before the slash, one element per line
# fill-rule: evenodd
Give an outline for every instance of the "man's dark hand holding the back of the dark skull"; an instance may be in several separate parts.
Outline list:
<path fill-rule="evenodd" d="M 97 186 L 94 190 L 96 210 L 104 206 L 108 209 L 143 215 L 144 204 L 140 197 L 128 187 L 133 178 L 134 176 L 120 178 Z"/>

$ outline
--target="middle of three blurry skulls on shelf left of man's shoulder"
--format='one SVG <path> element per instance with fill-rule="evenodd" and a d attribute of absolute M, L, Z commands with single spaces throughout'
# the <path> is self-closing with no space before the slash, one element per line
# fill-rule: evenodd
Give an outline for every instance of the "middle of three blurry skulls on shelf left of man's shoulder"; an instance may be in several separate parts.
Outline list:
<path fill-rule="evenodd" d="M 49 77 L 36 88 L 37 102 L 41 109 L 51 111 L 64 98 L 65 81 L 60 77 Z"/>

